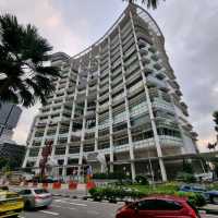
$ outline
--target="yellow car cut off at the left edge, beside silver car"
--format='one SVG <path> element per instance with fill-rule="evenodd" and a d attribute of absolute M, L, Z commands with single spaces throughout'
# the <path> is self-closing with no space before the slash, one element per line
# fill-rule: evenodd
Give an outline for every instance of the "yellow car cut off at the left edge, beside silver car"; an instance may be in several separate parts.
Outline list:
<path fill-rule="evenodd" d="M 0 217 L 17 217 L 24 208 L 23 198 L 15 192 L 0 190 Z"/>

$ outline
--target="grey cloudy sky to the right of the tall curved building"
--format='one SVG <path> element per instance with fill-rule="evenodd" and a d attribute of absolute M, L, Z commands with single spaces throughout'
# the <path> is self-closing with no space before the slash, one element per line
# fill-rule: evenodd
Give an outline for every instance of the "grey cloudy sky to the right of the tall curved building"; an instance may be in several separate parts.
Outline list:
<path fill-rule="evenodd" d="M 215 141 L 211 113 L 218 109 L 218 1 L 166 1 L 153 13 L 166 38 L 170 63 L 205 150 Z"/>

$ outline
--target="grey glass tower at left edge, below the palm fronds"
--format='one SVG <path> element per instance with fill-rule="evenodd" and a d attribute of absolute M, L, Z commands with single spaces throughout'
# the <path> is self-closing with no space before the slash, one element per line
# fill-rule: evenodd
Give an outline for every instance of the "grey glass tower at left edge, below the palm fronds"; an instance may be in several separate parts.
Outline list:
<path fill-rule="evenodd" d="M 11 141 L 13 129 L 16 128 L 22 109 L 12 104 L 2 104 L 0 107 L 0 143 Z"/>

